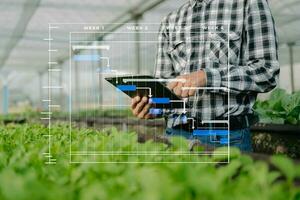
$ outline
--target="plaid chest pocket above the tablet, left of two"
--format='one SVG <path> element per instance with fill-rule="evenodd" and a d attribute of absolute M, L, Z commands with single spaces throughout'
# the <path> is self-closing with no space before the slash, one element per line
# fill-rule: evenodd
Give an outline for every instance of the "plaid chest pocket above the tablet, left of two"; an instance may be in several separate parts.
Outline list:
<path fill-rule="evenodd" d="M 181 73 L 187 65 L 187 48 L 184 41 L 175 41 L 168 49 L 174 70 Z"/>

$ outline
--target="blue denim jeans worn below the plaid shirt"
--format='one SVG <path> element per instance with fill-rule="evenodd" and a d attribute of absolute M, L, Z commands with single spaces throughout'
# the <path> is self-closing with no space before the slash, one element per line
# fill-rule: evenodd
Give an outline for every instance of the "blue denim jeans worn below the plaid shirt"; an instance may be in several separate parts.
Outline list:
<path fill-rule="evenodd" d="M 182 136 L 189 140 L 198 139 L 202 144 L 212 147 L 227 146 L 221 145 L 220 138 L 216 136 L 193 136 L 191 132 L 187 132 L 181 129 L 166 129 L 166 136 Z M 227 136 L 226 136 L 227 138 Z M 230 146 L 239 148 L 243 152 L 252 152 L 251 132 L 249 128 L 230 131 Z"/>

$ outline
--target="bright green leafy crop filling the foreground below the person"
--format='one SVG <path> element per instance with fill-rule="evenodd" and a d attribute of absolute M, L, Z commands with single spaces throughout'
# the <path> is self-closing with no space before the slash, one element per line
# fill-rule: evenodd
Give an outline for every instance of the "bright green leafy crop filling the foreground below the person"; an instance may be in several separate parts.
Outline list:
<path fill-rule="evenodd" d="M 45 165 L 43 153 L 48 129 L 41 125 L 0 127 L 0 199 L 299 199 L 293 182 L 299 166 L 285 157 L 274 157 L 277 170 L 265 162 L 232 151 L 228 165 L 216 164 L 70 164 L 69 127 L 52 126 L 52 153 L 56 165 Z M 82 150 L 92 143 L 103 151 L 178 152 L 188 148 L 181 138 L 173 145 L 137 143 L 135 133 L 93 130 L 72 131 L 72 148 Z M 218 152 L 222 149 L 216 150 Z M 224 149 L 223 149 L 224 151 Z M 109 159 L 109 158 L 108 158 Z M 128 156 L 114 157 L 120 162 Z M 145 158 L 139 158 L 140 161 Z M 147 160 L 174 161 L 178 157 L 154 155 Z M 187 159 L 187 158 L 180 158 Z M 196 158 L 193 158 L 196 159 Z M 210 161 L 210 157 L 204 158 Z M 145 161 L 145 160 L 144 160 Z M 280 178 L 279 177 L 286 177 Z"/>

